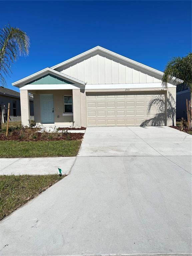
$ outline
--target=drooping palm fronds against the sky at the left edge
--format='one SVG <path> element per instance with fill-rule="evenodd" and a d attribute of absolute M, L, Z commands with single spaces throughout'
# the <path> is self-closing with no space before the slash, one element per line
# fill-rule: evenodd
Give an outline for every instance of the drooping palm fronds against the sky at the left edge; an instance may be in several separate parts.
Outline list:
<path fill-rule="evenodd" d="M 28 55 L 29 37 L 10 25 L 0 29 L 0 85 L 5 86 L 5 76 L 11 73 L 11 63 L 18 55 Z"/>

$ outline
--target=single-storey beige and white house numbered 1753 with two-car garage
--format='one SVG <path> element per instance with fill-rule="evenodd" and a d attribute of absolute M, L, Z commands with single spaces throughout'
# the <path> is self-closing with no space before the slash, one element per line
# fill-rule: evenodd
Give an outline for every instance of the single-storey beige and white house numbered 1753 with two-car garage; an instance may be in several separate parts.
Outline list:
<path fill-rule="evenodd" d="M 164 90 L 162 76 L 161 71 L 97 46 L 12 85 L 20 88 L 23 125 L 29 120 L 29 93 L 34 98 L 36 123 L 139 126 L 153 119 L 153 125 L 172 125 L 176 86 L 172 80 Z M 173 102 L 169 109 L 167 91 L 169 103 Z M 155 98 L 157 105 L 148 113 Z"/>

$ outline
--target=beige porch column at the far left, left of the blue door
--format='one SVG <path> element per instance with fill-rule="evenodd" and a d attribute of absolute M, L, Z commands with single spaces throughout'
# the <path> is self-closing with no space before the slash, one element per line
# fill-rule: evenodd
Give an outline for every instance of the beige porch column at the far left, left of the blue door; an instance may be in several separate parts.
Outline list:
<path fill-rule="evenodd" d="M 30 111 L 29 111 L 29 94 L 28 90 L 20 90 L 21 101 L 21 124 L 29 126 Z"/>

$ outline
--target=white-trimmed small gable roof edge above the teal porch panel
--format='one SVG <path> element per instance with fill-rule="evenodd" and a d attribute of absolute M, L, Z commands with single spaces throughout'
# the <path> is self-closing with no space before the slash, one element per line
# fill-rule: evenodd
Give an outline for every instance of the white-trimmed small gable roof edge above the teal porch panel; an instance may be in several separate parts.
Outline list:
<path fill-rule="evenodd" d="M 82 85 L 86 84 L 85 82 L 83 82 L 81 80 L 78 80 L 78 79 L 76 79 L 74 77 L 65 75 L 65 74 L 63 74 L 61 72 L 58 72 L 58 71 L 54 70 L 54 69 L 45 68 L 45 69 L 42 69 L 42 70 L 40 70 L 40 71 L 30 75 L 30 76 L 27 76 L 27 77 L 25 77 L 23 79 L 20 79 L 20 80 L 18 80 L 16 82 L 12 83 L 12 85 L 13 86 L 18 86 L 19 84 L 26 83 L 28 80 L 34 79 L 35 77 L 37 77 L 39 75 L 43 75 L 45 73 L 51 73 L 53 75 L 56 75 L 56 76 L 61 77 L 61 78 L 64 78 L 64 79 L 68 80 L 69 82 L 72 82 L 72 83 L 75 83 L 75 84 L 82 84 Z"/>

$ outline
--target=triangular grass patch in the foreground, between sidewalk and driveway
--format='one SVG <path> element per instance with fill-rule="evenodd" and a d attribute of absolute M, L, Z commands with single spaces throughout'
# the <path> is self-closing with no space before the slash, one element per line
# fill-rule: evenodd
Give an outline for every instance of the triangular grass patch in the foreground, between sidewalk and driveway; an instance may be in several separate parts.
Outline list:
<path fill-rule="evenodd" d="M 64 176 L 53 175 L 1 175 L 0 220 L 30 199 L 61 180 Z"/>

